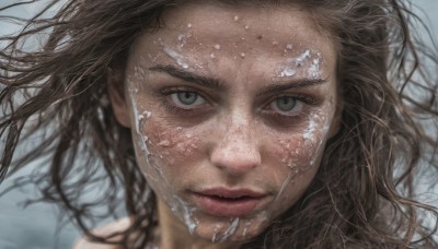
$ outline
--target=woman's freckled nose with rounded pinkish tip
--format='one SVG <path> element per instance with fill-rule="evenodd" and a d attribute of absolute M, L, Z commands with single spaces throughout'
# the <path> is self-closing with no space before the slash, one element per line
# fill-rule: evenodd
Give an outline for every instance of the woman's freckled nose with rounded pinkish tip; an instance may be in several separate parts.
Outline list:
<path fill-rule="evenodd" d="M 247 119 L 226 126 L 210 155 L 214 166 L 232 176 L 242 176 L 261 164 L 257 138 Z"/>

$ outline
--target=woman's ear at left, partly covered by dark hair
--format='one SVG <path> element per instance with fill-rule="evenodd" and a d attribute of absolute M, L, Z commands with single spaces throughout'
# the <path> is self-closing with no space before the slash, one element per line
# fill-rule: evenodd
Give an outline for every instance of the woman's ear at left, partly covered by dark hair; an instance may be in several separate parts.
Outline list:
<path fill-rule="evenodd" d="M 130 128 L 129 109 L 124 95 L 124 75 L 122 70 L 108 68 L 106 73 L 107 91 L 116 120 Z"/>

